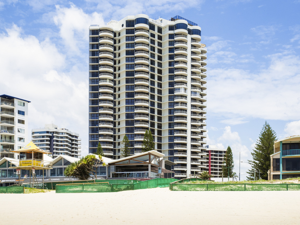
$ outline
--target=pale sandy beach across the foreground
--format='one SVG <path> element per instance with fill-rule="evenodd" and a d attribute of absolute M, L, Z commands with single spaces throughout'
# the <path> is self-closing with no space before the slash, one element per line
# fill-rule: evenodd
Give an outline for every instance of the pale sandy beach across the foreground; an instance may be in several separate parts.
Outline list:
<path fill-rule="evenodd" d="M 0 224 L 299 224 L 300 191 L 0 194 Z"/>

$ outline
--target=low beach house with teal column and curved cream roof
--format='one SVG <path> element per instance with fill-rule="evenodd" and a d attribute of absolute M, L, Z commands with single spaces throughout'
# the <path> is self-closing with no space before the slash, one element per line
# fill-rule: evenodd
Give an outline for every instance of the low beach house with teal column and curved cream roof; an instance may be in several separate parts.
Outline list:
<path fill-rule="evenodd" d="M 274 141 L 269 179 L 300 177 L 300 135 Z"/>

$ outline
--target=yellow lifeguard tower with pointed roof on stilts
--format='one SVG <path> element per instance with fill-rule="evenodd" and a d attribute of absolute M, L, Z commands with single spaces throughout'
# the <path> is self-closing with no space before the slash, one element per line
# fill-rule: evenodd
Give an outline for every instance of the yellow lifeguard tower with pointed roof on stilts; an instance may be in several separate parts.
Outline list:
<path fill-rule="evenodd" d="M 44 187 L 44 170 L 52 169 L 51 161 L 44 161 L 44 154 L 49 152 L 38 148 L 32 141 L 22 149 L 11 152 L 19 153 L 19 159 L 10 161 L 10 168 L 29 170 L 29 184 L 33 187 L 34 183 L 38 186 L 34 170 L 43 170 L 43 187 Z M 32 175 L 32 184 L 31 184 Z"/>

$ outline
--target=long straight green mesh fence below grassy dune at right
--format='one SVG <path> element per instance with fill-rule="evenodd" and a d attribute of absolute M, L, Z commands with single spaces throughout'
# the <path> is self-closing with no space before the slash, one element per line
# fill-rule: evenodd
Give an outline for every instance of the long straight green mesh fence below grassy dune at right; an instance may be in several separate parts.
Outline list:
<path fill-rule="evenodd" d="M 187 191 L 265 191 L 300 190 L 300 184 L 182 184 L 170 183 L 170 190 Z"/>

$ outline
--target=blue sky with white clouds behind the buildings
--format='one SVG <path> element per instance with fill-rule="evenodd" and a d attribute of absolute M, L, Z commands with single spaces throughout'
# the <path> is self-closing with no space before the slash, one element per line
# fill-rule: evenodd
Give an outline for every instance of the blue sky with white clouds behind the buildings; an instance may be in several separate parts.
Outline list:
<path fill-rule="evenodd" d="M 299 0 L 0 0 L 1 94 L 31 101 L 29 130 L 53 122 L 78 132 L 85 155 L 88 26 L 180 15 L 198 23 L 208 50 L 207 143 L 230 145 L 238 173 L 265 120 L 278 139 L 300 134 L 299 10 Z"/>

